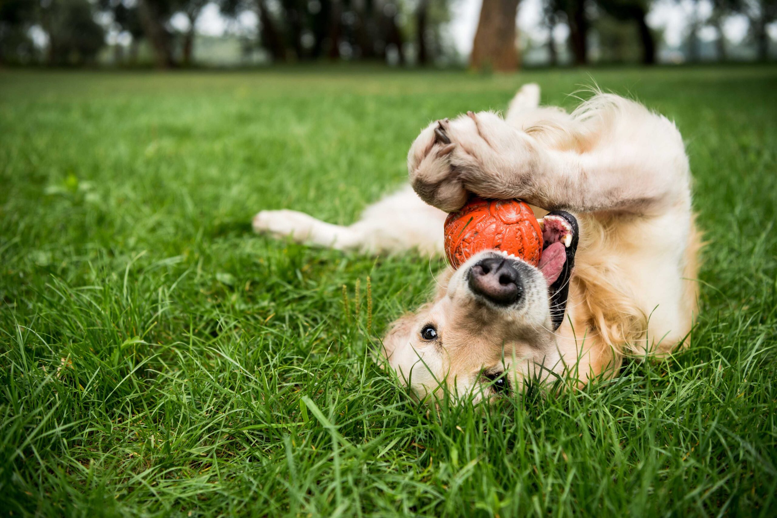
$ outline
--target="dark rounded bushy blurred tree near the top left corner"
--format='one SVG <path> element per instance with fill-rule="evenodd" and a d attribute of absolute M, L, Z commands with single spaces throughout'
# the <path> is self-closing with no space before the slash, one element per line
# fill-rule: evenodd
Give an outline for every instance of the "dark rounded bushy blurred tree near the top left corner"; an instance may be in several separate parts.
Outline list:
<path fill-rule="evenodd" d="M 48 64 L 91 63 L 105 45 L 105 31 L 96 23 L 87 0 L 41 3 L 40 26 L 47 34 Z"/>

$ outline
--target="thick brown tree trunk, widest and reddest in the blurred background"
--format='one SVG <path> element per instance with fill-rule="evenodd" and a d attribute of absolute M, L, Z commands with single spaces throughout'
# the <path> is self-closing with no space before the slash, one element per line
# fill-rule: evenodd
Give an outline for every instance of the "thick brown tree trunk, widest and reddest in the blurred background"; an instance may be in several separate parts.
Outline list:
<path fill-rule="evenodd" d="M 469 65 L 476 70 L 515 71 L 518 49 L 515 44 L 515 16 L 519 0 L 483 0 Z"/>

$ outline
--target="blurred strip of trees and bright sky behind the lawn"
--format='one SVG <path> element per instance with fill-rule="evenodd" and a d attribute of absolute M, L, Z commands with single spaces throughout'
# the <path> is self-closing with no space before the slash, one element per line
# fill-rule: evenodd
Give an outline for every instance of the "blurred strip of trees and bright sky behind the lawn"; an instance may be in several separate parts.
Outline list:
<path fill-rule="evenodd" d="M 0 64 L 767 61 L 775 20 L 777 0 L 2 0 Z"/>

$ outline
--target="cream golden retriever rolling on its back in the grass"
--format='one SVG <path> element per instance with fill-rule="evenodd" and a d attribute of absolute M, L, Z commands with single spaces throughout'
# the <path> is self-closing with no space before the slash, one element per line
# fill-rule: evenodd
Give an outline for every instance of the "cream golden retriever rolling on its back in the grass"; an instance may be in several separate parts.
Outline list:
<path fill-rule="evenodd" d="M 518 198 L 542 224 L 549 271 L 479 252 L 417 311 L 394 322 L 382 353 L 419 398 L 473 402 L 530 381 L 581 387 L 625 356 L 688 345 L 697 312 L 699 231 L 691 174 L 670 120 L 594 92 L 572 113 L 524 85 L 507 114 L 436 120 L 408 154 L 409 186 L 348 227 L 293 210 L 261 211 L 258 232 L 362 252 L 443 252 L 443 224 L 472 194 Z M 560 249 L 556 243 L 562 243 Z M 544 256 L 545 252 L 543 252 Z"/>

